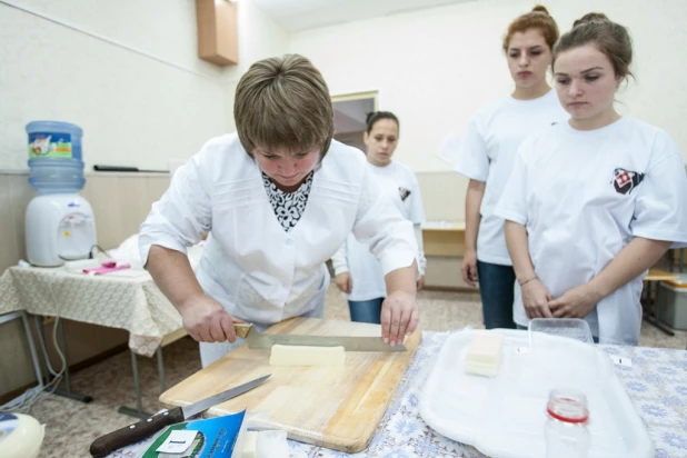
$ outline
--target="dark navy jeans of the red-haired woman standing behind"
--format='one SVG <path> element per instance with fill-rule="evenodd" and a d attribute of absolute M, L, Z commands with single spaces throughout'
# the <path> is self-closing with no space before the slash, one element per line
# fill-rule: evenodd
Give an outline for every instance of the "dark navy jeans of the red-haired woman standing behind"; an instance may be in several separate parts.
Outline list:
<path fill-rule="evenodd" d="M 512 321 L 514 287 L 516 281 L 512 266 L 477 261 L 479 295 L 485 328 L 515 329 Z"/>

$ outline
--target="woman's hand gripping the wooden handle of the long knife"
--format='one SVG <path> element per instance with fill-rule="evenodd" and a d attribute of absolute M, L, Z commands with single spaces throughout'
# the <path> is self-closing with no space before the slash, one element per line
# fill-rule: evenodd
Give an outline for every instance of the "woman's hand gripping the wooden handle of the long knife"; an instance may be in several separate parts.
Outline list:
<path fill-rule="evenodd" d="M 208 296 L 198 295 L 178 307 L 183 328 L 199 342 L 236 341 L 235 322 L 243 322 Z"/>

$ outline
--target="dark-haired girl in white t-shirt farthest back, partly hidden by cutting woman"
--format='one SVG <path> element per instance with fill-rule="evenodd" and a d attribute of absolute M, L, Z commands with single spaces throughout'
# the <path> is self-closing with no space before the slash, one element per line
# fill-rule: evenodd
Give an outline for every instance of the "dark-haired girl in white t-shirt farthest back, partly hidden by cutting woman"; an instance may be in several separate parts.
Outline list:
<path fill-rule="evenodd" d="M 395 205 L 404 218 L 412 222 L 418 243 L 418 267 L 420 278 L 417 289 L 425 285 L 422 232 L 425 220 L 422 198 L 418 180 L 410 169 L 391 160 L 398 145 L 398 118 L 389 111 L 371 112 L 367 117 L 367 129 L 362 140 L 367 146 L 367 161 L 371 175 L 377 179 L 381 192 Z M 381 265 L 370 253 L 370 247 L 349 235 L 346 243 L 331 258 L 337 287 L 348 295 L 352 321 L 380 322 L 381 303 L 387 297 Z"/>

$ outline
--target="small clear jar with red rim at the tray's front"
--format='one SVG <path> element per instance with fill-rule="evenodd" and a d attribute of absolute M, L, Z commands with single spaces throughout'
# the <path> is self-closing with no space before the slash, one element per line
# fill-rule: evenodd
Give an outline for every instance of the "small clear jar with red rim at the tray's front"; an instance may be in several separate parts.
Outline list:
<path fill-rule="evenodd" d="M 546 411 L 546 457 L 586 458 L 590 441 L 587 397 L 572 389 L 555 389 L 549 394 Z"/>

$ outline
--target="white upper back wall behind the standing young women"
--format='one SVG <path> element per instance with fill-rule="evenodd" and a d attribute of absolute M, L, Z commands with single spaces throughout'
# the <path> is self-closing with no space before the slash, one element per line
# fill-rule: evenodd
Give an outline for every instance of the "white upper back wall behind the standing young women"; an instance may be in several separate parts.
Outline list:
<path fill-rule="evenodd" d="M 512 90 L 501 38 L 532 0 L 480 0 L 322 27 L 291 34 L 289 48 L 310 58 L 331 93 L 376 90 L 379 109 L 400 119 L 397 159 L 416 172 L 448 171 L 437 158 L 486 103 Z M 561 31 L 589 11 L 627 26 L 636 81 L 617 94 L 618 110 L 665 129 L 687 159 L 687 1 L 547 0 Z M 657 32 L 660 31 L 660 32 Z M 465 193 L 461 193 L 465 196 Z"/>

